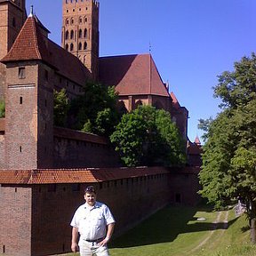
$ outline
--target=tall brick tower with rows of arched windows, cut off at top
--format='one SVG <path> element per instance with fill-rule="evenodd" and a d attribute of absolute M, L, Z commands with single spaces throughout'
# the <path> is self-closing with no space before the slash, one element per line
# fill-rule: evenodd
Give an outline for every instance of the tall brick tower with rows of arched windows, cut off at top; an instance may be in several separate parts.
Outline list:
<path fill-rule="evenodd" d="M 99 2 L 63 0 L 61 44 L 98 78 Z"/>

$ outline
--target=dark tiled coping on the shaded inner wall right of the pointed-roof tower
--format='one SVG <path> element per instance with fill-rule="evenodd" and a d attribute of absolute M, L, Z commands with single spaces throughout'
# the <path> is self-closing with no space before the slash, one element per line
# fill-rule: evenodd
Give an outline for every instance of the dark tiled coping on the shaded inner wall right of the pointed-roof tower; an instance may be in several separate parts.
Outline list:
<path fill-rule="evenodd" d="M 54 127 L 53 135 L 55 137 L 62 137 L 70 140 L 84 140 L 87 142 L 97 143 L 97 144 L 108 144 L 108 141 L 105 137 L 101 137 L 99 135 L 79 132 L 70 130 L 67 128 Z"/>

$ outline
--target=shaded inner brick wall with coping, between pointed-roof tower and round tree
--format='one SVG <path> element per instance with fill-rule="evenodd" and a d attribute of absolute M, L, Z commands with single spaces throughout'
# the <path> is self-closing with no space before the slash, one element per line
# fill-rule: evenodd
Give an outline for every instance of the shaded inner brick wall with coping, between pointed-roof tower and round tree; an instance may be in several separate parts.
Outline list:
<path fill-rule="evenodd" d="M 54 168 L 116 167 L 119 157 L 103 137 L 54 128 Z"/>

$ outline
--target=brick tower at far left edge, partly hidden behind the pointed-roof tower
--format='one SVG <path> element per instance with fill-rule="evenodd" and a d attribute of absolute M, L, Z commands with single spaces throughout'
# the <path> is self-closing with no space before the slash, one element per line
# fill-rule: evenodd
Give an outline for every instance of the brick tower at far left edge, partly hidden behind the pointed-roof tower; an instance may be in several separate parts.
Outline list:
<path fill-rule="evenodd" d="M 25 0 L 0 0 L 0 60 L 10 51 L 26 17 Z M 0 63 L 0 99 L 4 98 L 5 76 Z"/>

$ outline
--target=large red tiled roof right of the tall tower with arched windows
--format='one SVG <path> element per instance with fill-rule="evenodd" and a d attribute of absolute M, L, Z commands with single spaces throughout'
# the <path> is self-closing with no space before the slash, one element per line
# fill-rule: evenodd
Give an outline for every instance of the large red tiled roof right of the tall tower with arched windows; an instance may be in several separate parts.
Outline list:
<path fill-rule="evenodd" d="M 170 97 L 150 54 L 100 58 L 100 81 L 115 85 L 119 95 Z"/>

